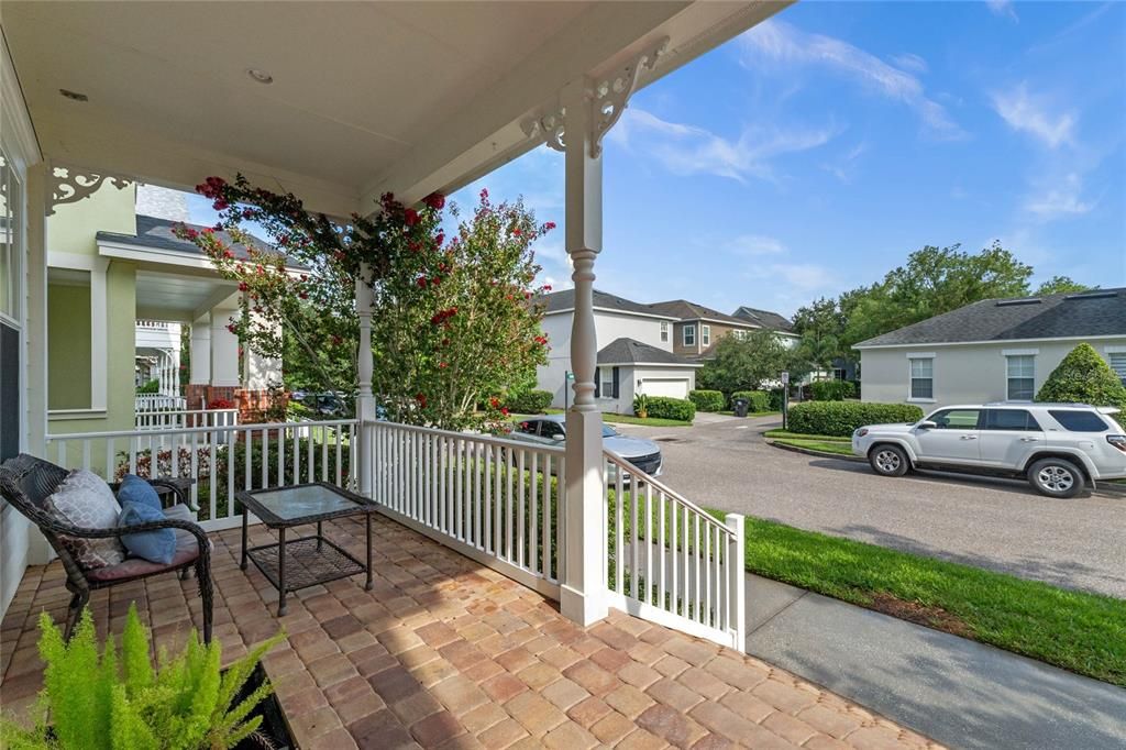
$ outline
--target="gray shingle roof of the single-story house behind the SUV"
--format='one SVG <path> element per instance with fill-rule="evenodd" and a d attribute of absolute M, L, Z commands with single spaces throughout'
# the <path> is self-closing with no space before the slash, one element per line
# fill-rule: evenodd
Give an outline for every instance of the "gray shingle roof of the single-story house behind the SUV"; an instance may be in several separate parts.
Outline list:
<path fill-rule="evenodd" d="M 861 341 L 857 348 L 1080 336 L 1126 336 L 1126 288 L 983 300 Z"/>

